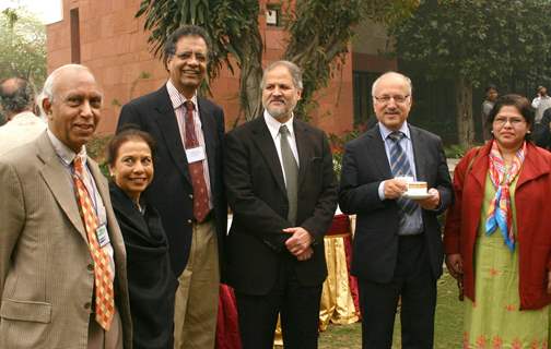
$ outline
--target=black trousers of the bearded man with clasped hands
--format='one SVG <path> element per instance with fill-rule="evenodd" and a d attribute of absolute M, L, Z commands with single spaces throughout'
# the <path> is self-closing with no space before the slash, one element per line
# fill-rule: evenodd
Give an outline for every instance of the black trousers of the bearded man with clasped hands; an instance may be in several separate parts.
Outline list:
<path fill-rule="evenodd" d="M 278 313 L 281 313 L 285 349 L 317 348 L 321 285 L 302 286 L 293 258 L 292 255 L 282 256 L 278 279 L 268 294 L 235 291 L 243 349 L 273 348 Z"/>

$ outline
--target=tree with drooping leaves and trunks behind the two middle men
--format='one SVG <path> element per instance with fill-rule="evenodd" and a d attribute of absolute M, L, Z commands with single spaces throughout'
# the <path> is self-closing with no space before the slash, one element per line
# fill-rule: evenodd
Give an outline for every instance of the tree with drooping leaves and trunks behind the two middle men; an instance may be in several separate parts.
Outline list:
<path fill-rule="evenodd" d="M 353 26 L 371 16 L 386 23 L 411 13 L 419 0 L 302 0 L 281 1 L 289 33 L 283 58 L 304 71 L 303 99 L 298 108 L 307 109 L 314 93 L 329 82 L 342 67 Z M 295 7 L 291 8 L 290 3 Z M 262 76 L 262 40 L 258 29 L 258 0 L 142 0 L 136 16 L 145 16 L 144 28 L 155 53 L 167 34 L 183 24 L 198 24 L 212 41 L 210 79 L 225 64 L 233 71 L 232 59 L 241 70 L 239 100 L 246 120 L 261 110 L 259 89 Z M 300 113 L 302 116 L 306 113 Z"/>

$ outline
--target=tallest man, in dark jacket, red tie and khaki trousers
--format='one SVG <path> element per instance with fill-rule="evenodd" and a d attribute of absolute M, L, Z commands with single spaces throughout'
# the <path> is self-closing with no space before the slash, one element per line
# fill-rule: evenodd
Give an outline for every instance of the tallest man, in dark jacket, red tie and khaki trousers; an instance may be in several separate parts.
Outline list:
<path fill-rule="evenodd" d="M 209 39 L 198 26 L 164 47 L 169 79 L 122 107 L 118 130 L 133 123 L 156 141 L 155 178 L 145 192 L 168 237 L 175 292 L 174 348 L 214 348 L 227 206 L 222 181 L 224 113 L 197 95 Z"/>

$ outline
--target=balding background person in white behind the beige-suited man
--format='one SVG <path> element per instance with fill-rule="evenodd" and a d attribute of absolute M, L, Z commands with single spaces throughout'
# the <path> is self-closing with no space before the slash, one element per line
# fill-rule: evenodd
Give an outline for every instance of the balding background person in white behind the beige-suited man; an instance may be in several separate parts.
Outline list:
<path fill-rule="evenodd" d="M 35 93 L 28 81 L 10 77 L 0 82 L 0 111 L 7 123 L 0 127 L 0 155 L 28 143 L 46 130 L 46 122 L 34 115 Z"/>

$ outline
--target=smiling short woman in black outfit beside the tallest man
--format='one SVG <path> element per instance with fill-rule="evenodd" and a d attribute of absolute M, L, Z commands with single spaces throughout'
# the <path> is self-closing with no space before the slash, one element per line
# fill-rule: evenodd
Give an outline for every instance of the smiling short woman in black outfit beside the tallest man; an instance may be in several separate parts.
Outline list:
<path fill-rule="evenodd" d="M 174 292 L 168 242 L 159 213 L 142 192 L 153 180 L 153 140 L 137 129 L 115 135 L 107 149 L 113 208 L 128 260 L 134 349 L 172 349 Z"/>

